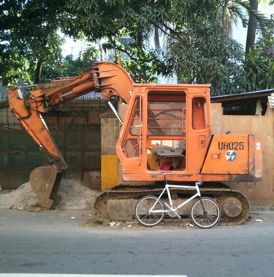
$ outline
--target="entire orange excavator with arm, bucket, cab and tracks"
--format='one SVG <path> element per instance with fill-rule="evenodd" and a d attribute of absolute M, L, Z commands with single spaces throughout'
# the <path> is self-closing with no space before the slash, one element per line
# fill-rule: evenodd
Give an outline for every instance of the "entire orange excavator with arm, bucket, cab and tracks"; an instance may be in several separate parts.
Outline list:
<path fill-rule="evenodd" d="M 10 111 L 47 157 L 48 165 L 34 169 L 29 178 L 42 207 L 49 209 L 58 201 L 62 173 L 68 168 L 43 114 L 95 91 L 121 124 L 116 152 L 123 179 L 97 198 L 98 216 L 132 219 L 137 199 L 160 194 L 163 175 L 158 170 L 162 169 L 170 171 L 166 177 L 171 183 L 202 180 L 201 194 L 219 203 L 226 222 L 241 223 L 247 218 L 250 205 L 245 195 L 222 182 L 262 179 L 261 137 L 211 134 L 210 85 L 139 84 L 117 64 L 94 62 L 79 77 L 33 86 L 26 97 L 20 90 L 23 87 L 12 86 L 8 96 Z M 113 96 L 128 104 L 123 121 L 110 101 Z M 172 198 L 181 201 L 190 193 L 191 189 L 176 188 Z"/>

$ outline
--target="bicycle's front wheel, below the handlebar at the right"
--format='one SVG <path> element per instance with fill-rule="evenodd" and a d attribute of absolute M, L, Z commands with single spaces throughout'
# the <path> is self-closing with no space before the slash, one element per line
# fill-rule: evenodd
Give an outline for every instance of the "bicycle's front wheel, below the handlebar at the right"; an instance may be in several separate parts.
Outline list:
<path fill-rule="evenodd" d="M 221 218 L 220 206 L 214 199 L 209 197 L 202 197 L 202 202 L 205 211 L 200 199 L 197 200 L 191 208 L 191 220 L 199 228 L 211 228 L 216 225 Z"/>

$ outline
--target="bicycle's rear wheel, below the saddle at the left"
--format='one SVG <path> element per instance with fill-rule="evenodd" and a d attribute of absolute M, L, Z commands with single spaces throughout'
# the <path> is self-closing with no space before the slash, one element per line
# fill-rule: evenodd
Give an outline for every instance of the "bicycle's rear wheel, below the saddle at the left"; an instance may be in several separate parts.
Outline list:
<path fill-rule="evenodd" d="M 134 214 L 139 223 L 145 227 L 153 227 L 160 224 L 164 218 L 164 204 L 158 197 L 149 195 L 142 197 L 136 204 Z M 149 212 L 149 210 L 156 203 L 153 210 L 158 212 Z"/>

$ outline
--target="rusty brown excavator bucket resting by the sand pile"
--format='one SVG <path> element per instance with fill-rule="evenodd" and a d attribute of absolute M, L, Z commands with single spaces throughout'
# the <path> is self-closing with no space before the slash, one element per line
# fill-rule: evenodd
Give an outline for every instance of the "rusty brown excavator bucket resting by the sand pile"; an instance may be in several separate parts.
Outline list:
<path fill-rule="evenodd" d="M 29 176 L 30 186 L 43 208 L 50 209 L 53 202 L 59 202 L 59 184 L 63 172 L 58 172 L 55 165 L 40 166 L 32 170 Z"/>

